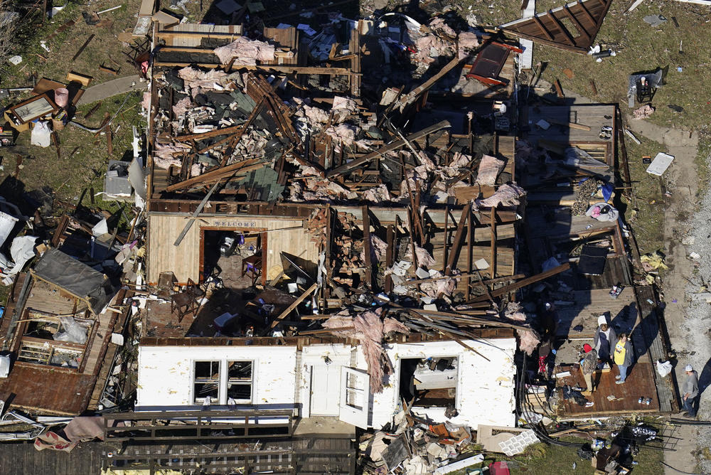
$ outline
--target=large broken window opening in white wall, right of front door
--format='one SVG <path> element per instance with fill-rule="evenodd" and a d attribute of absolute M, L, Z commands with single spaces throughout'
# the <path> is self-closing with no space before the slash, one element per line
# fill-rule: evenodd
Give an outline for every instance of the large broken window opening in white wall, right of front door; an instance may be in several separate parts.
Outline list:
<path fill-rule="evenodd" d="M 402 359 L 400 396 L 417 407 L 456 405 L 458 363 L 456 356 Z"/>

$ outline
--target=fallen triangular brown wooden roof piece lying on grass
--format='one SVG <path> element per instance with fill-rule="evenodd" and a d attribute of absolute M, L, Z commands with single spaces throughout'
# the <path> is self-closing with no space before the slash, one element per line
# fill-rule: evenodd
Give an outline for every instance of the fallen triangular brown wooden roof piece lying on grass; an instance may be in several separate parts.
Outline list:
<path fill-rule="evenodd" d="M 531 18 L 510 21 L 499 28 L 536 43 L 587 53 L 611 3 L 612 0 L 575 1 Z"/>

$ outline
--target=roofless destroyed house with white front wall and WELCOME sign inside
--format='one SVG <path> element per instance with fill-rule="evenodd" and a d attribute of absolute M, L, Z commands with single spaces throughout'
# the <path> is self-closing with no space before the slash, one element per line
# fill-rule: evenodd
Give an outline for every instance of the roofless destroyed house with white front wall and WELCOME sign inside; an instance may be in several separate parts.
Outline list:
<path fill-rule="evenodd" d="M 407 94 L 373 89 L 360 81 L 363 52 L 382 54 L 371 27 L 340 28 L 323 50 L 293 28 L 258 43 L 235 29 L 221 45 L 159 31 L 146 203 L 159 290 L 137 296 L 147 337 L 136 412 L 121 417 L 214 415 L 241 437 L 315 437 L 324 419 L 352 437 L 405 408 L 515 425 L 517 333 L 530 327 L 515 302 L 493 304 L 523 277 L 513 55 L 493 69 L 496 96 L 466 78 L 476 38 Z M 208 40 L 214 55 L 197 51 Z M 243 47 L 252 64 L 235 59 Z"/>

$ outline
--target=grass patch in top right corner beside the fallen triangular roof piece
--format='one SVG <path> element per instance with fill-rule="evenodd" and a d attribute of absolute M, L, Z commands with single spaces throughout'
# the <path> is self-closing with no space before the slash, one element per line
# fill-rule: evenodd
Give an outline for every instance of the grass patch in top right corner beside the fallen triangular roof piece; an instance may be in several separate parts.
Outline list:
<path fill-rule="evenodd" d="M 551 6 L 560 6 L 560 2 L 538 2 L 536 10 L 545 11 Z M 628 6 L 625 2 L 612 3 L 595 40 L 617 51 L 615 57 L 596 63 L 589 55 L 536 45 L 534 61 L 547 63 L 542 78 L 549 82 L 558 79 L 562 87 L 599 102 L 620 102 L 622 110 L 627 112 L 628 76 L 637 71 L 668 68 L 665 84 L 653 98 L 656 112 L 648 120 L 665 127 L 685 129 L 705 124 L 711 97 L 711 85 L 705 79 L 711 74 L 711 62 L 707 61 L 711 37 L 698 35 L 696 31 L 703 28 L 707 9 L 675 1 L 644 2 L 630 14 L 623 15 Z M 642 20 L 646 15 L 656 14 L 662 14 L 668 21 L 652 27 Z M 678 21 L 679 28 L 672 17 Z M 682 53 L 679 53 L 680 43 L 683 43 Z M 566 68 L 573 71 L 573 78 L 562 73 Z M 682 71 L 678 72 L 677 68 Z M 592 94 L 591 79 L 597 86 L 597 96 Z M 668 107 L 670 104 L 683 107 L 683 112 L 674 112 Z"/>

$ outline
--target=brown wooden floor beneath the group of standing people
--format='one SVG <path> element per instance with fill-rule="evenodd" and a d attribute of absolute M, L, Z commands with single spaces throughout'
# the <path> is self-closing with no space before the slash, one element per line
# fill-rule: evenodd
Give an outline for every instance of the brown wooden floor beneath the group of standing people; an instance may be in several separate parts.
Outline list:
<path fill-rule="evenodd" d="M 557 367 L 554 372 L 557 373 L 560 370 L 561 368 Z M 564 400 L 562 398 L 562 389 L 558 389 L 560 402 L 557 414 L 561 417 L 585 417 L 592 415 L 630 415 L 633 412 L 659 412 L 659 400 L 653 372 L 653 366 L 645 360 L 638 361 L 629 368 L 624 384 L 615 384 L 615 376 L 619 375 L 619 370 L 616 366 L 609 373 L 597 373 L 596 379 L 599 381 L 597 390 L 592 395 L 586 396 L 588 400 L 594 402 L 592 407 L 584 407 L 577 405 L 572 400 Z M 559 378 L 557 386 L 562 388 L 562 385 L 570 384 L 574 386 L 577 383 L 581 388 L 585 388 L 585 380 L 580 370 L 572 369 L 570 373 L 570 376 Z M 607 399 L 609 395 L 614 395 L 619 399 L 610 401 Z M 649 405 L 639 404 L 637 402 L 639 397 L 651 397 L 652 401 Z"/>

